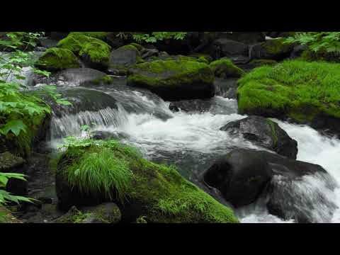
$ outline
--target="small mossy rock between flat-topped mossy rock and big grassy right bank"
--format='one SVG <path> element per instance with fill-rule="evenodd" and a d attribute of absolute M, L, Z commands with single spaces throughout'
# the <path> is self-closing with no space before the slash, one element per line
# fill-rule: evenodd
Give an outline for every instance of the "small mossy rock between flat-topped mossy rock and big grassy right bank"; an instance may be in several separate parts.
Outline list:
<path fill-rule="evenodd" d="M 214 72 L 215 77 L 219 78 L 239 78 L 244 75 L 244 71 L 237 67 L 232 60 L 221 59 L 210 63 L 210 68 Z"/>

